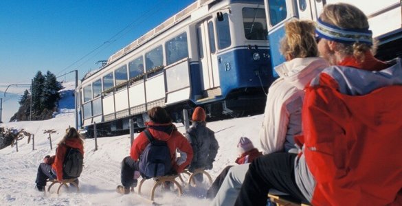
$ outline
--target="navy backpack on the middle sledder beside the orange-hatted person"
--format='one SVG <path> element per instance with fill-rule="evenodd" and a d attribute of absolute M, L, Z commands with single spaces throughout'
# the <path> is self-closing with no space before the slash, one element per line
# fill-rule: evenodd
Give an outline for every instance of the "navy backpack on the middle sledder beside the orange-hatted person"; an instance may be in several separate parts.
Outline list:
<path fill-rule="evenodd" d="M 139 172 L 146 179 L 168 174 L 172 169 L 168 144 L 154 139 L 148 130 L 144 130 L 144 133 L 150 143 L 139 156 Z"/>

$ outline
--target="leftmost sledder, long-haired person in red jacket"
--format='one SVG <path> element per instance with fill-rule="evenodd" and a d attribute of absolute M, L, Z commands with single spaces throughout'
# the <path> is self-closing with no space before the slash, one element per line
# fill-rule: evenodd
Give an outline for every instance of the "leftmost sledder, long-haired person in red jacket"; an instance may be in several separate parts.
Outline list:
<path fill-rule="evenodd" d="M 43 159 L 43 163 L 39 165 L 38 173 L 36 174 L 36 189 L 43 191 L 46 186 L 47 179 L 69 179 L 69 176 L 63 174 L 63 162 L 65 159 L 68 148 L 77 148 L 80 150 L 82 156 L 84 155 L 84 141 L 76 128 L 67 128 L 66 133 L 58 143 L 56 148 L 56 155 L 50 157 L 47 155 Z M 76 179 L 78 184 L 78 179 Z"/>

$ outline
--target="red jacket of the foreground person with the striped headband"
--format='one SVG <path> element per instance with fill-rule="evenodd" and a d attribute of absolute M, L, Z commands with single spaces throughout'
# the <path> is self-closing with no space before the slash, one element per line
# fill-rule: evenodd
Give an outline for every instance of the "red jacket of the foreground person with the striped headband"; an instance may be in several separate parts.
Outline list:
<path fill-rule="evenodd" d="M 370 78 L 363 74 L 368 76 L 356 78 Z M 338 88 L 349 85 L 337 84 L 324 70 L 320 83 L 306 89 L 300 142 L 315 181 L 311 203 L 396 205 L 402 188 L 402 85 L 347 95 Z"/>

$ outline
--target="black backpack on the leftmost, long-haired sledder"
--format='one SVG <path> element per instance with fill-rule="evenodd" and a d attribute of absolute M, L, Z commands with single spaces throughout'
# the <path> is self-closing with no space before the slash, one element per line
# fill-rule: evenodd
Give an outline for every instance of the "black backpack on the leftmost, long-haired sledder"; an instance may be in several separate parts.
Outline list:
<path fill-rule="evenodd" d="M 84 163 L 83 160 L 84 157 L 82 156 L 80 150 L 76 148 L 68 148 L 63 162 L 64 176 L 71 178 L 80 176 Z"/>

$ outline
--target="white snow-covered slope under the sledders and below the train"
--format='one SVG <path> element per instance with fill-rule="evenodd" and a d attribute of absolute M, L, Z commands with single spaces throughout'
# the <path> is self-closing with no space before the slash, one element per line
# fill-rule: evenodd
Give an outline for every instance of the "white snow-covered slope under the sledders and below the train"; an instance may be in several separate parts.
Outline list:
<path fill-rule="evenodd" d="M 67 100 L 71 95 L 64 97 L 61 102 L 71 102 Z M 63 137 L 65 129 L 74 126 L 73 110 L 74 104 L 72 108 L 71 104 L 67 104 L 67 108 L 54 119 L 0 124 L 0 127 L 23 128 L 35 135 L 35 150 L 32 150 L 32 141 L 27 144 L 27 138 L 19 142 L 19 152 L 11 146 L 0 150 L 0 205 L 149 205 L 135 194 L 123 196 L 115 192 L 115 187 L 120 185 L 120 162 L 129 155 L 129 135 L 99 138 L 96 151 L 94 139 L 85 140 L 85 166 L 80 176 L 80 193 L 63 189 L 57 195 L 53 187 L 47 194 L 34 190 L 39 163 L 45 155 L 54 155 L 56 144 Z M 254 146 L 260 148 L 258 129 L 262 121 L 263 115 L 256 115 L 208 123 L 208 127 L 215 131 L 220 146 L 214 168 L 209 171 L 213 179 L 226 165 L 234 164 L 236 144 L 240 137 L 249 137 Z M 177 127 L 184 133 L 181 124 L 177 124 Z M 44 134 L 45 130 L 56 132 L 52 134 L 53 150 L 50 150 L 49 135 Z M 152 184 L 152 180 L 144 183 L 142 192 L 146 197 Z M 185 187 L 181 197 L 175 193 L 159 192 L 161 196 L 157 196 L 156 201 L 164 205 L 209 205 L 210 201 L 202 198 L 206 188 Z"/>

